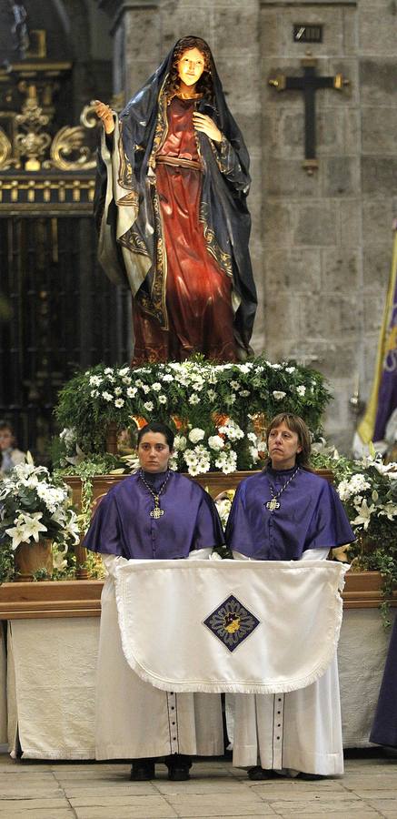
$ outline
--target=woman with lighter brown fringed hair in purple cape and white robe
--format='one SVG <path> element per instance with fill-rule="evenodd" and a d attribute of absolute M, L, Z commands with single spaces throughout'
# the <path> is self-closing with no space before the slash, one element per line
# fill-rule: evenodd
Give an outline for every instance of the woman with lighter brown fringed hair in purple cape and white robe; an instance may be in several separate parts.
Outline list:
<path fill-rule="evenodd" d="M 235 494 L 226 542 L 237 560 L 325 560 L 355 540 L 331 483 L 309 467 L 304 421 L 277 415 L 267 429 L 269 461 Z M 283 600 L 280 601 L 283 607 Z M 291 622 L 293 639 L 293 622 Z M 317 682 L 291 693 L 238 694 L 233 764 L 253 780 L 277 773 L 303 779 L 341 775 L 342 723 L 336 656 Z"/>

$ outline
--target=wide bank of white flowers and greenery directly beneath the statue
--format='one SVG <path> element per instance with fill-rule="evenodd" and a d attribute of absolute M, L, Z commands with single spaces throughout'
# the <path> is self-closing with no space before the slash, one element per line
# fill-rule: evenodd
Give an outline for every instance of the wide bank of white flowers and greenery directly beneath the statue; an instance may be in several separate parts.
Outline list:
<path fill-rule="evenodd" d="M 204 430 L 202 443 L 210 451 L 214 469 L 220 469 L 213 457 L 218 446 L 219 454 L 223 453 L 218 460 L 230 470 L 235 458 L 227 455 L 229 442 L 237 452 L 237 468 L 244 470 L 256 463 L 256 443 L 246 440 L 252 427 L 250 416 L 263 414 L 270 419 L 279 411 L 294 412 L 317 430 L 328 398 L 323 376 L 292 362 L 272 363 L 259 357 L 243 364 L 213 364 L 195 357 L 136 369 L 97 365 L 65 385 L 55 411 L 61 426 L 74 428 L 75 446 L 87 456 L 104 452 L 106 430 L 112 424 L 122 430 L 132 425 L 133 418 L 140 425 L 142 420 L 163 420 L 184 434 Z M 217 416 L 232 422 L 218 422 Z M 175 418 L 182 421 L 183 430 Z M 236 428 L 241 432 L 235 432 Z M 225 436 L 224 446 L 216 439 L 218 435 Z M 210 444 L 209 438 L 216 440 Z M 70 455 L 66 443 L 62 440 L 64 450 L 69 450 L 65 454 Z M 204 465 L 208 459 L 199 460 Z"/>

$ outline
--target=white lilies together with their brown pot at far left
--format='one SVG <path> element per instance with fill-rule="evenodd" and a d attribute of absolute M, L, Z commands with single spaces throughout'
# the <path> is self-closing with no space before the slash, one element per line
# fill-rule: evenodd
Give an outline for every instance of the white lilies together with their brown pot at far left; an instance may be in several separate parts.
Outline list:
<path fill-rule="evenodd" d="M 51 576 L 52 543 L 59 556 L 79 537 L 68 487 L 28 453 L 0 484 L 0 582 Z"/>

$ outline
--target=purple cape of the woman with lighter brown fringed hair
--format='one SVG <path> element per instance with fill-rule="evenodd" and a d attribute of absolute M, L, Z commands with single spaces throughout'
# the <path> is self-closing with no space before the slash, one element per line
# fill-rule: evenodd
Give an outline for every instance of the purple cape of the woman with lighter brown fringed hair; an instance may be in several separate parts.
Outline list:
<path fill-rule="evenodd" d="M 332 484 L 313 472 L 299 470 L 277 499 L 280 509 L 266 509 L 270 487 L 276 494 L 293 471 L 269 468 L 241 482 L 226 527 L 231 549 L 257 561 L 299 561 L 306 549 L 355 541 Z"/>

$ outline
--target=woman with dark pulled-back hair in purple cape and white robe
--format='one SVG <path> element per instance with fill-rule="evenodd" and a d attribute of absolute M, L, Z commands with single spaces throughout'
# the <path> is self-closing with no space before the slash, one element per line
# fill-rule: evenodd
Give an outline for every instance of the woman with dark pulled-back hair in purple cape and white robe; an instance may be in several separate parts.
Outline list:
<path fill-rule="evenodd" d="M 101 552 L 109 576 L 102 594 L 96 695 L 96 758 L 132 759 L 131 779 L 154 779 L 163 758 L 172 780 L 189 778 L 190 757 L 223 753 L 220 696 L 167 693 L 143 682 L 122 650 L 114 572 L 131 560 L 197 560 L 222 546 L 210 496 L 168 461 L 174 434 L 152 422 L 139 432 L 140 469 L 105 495 L 84 546 Z M 148 605 L 155 601 L 148 601 Z M 177 606 L 177 601 L 175 601 Z M 170 651 L 173 635 L 169 635 Z"/>

